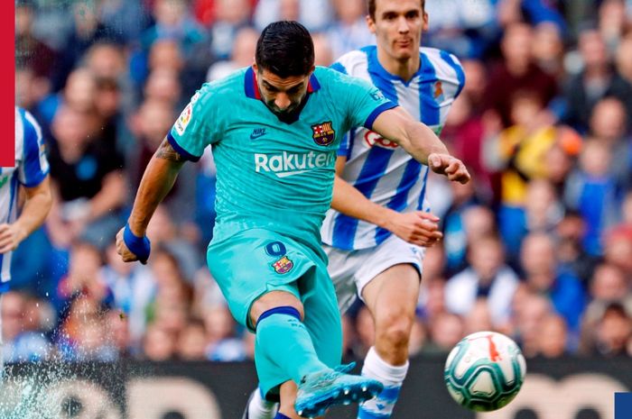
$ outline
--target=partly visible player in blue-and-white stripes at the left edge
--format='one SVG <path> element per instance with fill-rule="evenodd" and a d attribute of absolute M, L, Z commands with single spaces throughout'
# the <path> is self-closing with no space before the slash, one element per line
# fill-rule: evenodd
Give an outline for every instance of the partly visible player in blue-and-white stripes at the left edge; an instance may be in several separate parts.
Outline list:
<path fill-rule="evenodd" d="M 0 307 L 9 288 L 12 251 L 37 229 L 51 209 L 49 165 L 42 130 L 32 114 L 15 107 L 15 164 L 0 168 Z M 18 216 L 18 194 L 24 188 L 26 200 Z M 0 323 L 1 324 L 1 323 Z M 2 376 L 0 336 L 0 376 Z"/>

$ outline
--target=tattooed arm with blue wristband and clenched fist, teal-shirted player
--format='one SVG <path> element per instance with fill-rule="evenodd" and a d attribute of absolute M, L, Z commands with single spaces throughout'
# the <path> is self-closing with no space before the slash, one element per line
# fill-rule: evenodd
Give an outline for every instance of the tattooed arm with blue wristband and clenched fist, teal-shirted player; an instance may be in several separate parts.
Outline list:
<path fill-rule="evenodd" d="M 116 250 L 125 262 L 134 260 L 147 262 L 149 257 L 149 241 L 145 237 L 147 225 L 156 207 L 172 189 L 185 161 L 186 159 L 174 150 L 165 138 L 147 164 L 127 226 L 116 234 Z"/>

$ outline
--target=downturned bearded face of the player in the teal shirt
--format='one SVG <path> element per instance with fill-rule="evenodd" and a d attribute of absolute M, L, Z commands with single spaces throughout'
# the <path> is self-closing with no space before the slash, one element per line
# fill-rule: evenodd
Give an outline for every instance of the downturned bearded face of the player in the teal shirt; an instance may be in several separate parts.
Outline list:
<path fill-rule="evenodd" d="M 274 114 L 292 114 L 307 94 L 310 76 L 278 77 L 274 73 L 261 69 L 257 71 L 256 83 L 265 105 Z"/>

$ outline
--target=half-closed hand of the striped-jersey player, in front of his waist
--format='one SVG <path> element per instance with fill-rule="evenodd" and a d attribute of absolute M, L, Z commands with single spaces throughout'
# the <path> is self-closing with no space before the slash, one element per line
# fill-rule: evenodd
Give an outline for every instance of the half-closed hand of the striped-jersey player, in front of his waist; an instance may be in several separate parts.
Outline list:
<path fill-rule="evenodd" d="M 439 217 L 423 211 L 397 213 L 389 220 L 386 229 L 404 241 L 423 247 L 432 247 L 443 237 L 439 231 Z"/>

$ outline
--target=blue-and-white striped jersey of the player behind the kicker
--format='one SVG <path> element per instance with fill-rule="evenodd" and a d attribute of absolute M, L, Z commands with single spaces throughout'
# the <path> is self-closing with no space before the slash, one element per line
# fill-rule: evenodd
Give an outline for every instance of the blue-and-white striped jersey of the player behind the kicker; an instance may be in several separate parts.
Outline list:
<path fill-rule="evenodd" d="M 351 51 L 331 67 L 371 81 L 386 98 L 404 107 L 437 134 L 450 106 L 465 85 L 459 60 L 448 52 L 421 48 L 421 67 L 405 82 L 386 71 L 377 60 L 376 46 Z M 342 178 L 368 199 L 395 211 L 430 211 L 425 197 L 428 167 L 418 163 L 393 141 L 365 128 L 351 130 L 340 144 L 347 157 Z M 334 210 L 322 225 L 322 241 L 342 250 L 375 247 L 391 233 Z"/>

